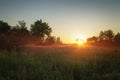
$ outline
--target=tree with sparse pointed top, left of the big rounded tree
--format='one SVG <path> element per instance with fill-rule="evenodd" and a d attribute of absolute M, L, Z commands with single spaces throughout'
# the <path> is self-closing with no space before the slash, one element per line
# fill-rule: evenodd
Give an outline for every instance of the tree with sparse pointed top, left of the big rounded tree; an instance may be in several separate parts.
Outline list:
<path fill-rule="evenodd" d="M 11 43 L 13 46 L 25 45 L 28 43 L 30 33 L 27 30 L 24 20 L 18 21 L 18 24 L 11 29 Z"/>

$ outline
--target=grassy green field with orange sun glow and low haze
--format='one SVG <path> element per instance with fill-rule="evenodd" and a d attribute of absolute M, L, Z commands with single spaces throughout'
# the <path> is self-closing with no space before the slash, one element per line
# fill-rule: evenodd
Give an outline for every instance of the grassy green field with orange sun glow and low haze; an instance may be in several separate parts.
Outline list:
<path fill-rule="evenodd" d="M 0 80 L 120 80 L 120 49 L 34 46 L 1 50 Z"/>

